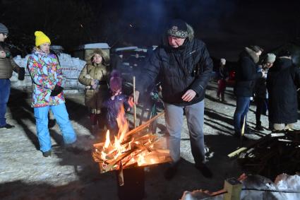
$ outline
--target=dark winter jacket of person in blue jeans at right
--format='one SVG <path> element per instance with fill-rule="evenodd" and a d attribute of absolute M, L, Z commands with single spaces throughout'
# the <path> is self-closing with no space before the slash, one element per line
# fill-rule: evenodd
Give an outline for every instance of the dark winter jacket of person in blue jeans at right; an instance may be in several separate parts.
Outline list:
<path fill-rule="evenodd" d="M 261 72 L 256 71 L 256 64 L 248 52 L 241 53 L 239 66 L 236 69 L 236 85 L 234 94 L 238 97 L 251 97 L 256 79 L 263 76 Z"/>

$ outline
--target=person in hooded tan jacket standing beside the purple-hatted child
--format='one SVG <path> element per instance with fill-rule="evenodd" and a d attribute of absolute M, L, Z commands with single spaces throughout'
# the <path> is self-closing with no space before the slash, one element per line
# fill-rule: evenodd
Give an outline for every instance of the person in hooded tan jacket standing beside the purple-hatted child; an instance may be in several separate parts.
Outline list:
<path fill-rule="evenodd" d="M 93 134 L 97 128 L 104 129 L 106 109 L 102 107 L 109 91 L 109 55 L 102 49 L 94 49 L 88 63 L 83 67 L 78 81 L 85 86 L 85 106 L 90 110 L 90 124 Z"/>

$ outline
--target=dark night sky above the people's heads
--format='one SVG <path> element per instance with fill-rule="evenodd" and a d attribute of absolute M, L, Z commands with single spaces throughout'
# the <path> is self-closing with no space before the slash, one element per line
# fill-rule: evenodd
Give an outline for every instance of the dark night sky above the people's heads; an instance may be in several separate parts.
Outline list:
<path fill-rule="evenodd" d="M 268 51 L 300 35 L 300 1 L 0 0 L 0 16 L 19 49 L 33 45 L 35 30 L 66 50 L 87 42 L 159 45 L 172 18 L 191 24 L 212 57 L 232 61 L 247 45 Z"/>

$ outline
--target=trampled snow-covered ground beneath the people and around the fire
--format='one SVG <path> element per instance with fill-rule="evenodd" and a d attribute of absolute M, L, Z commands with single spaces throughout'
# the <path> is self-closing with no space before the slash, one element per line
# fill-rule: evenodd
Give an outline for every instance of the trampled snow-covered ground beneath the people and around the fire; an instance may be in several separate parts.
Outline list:
<path fill-rule="evenodd" d="M 232 136 L 235 100 L 232 88 L 227 88 L 227 102 L 215 99 L 216 85 L 210 83 L 205 98 L 205 145 L 212 179 L 193 167 L 186 121 L 181 134 L 183 161 L 173 180 L 164 180 L 166 164 L 153 165 L 145 171 L 145 199 L 180 199 L 184 191 L 222 189 L 228 177 L 239 177 L 241 169 L 227 154 L 239 147 L 240 141 Z M 73 127 L 78 134 L 80 148 L 88 150 L 101 140 L 89 131 L 88 110 L 83 105 L 82 93 L 66 95 L 66 106 Z M 255 106 L 248 113 L 248 125 L 255 127 Z M 115 172 L 99 173 L 99 168 L 87 153 L 74 154 L 62 147 L 61 133 L 56 125 L 50 129 L 53 153 L 44 158 L 38 151 L 35 119 L 30 107 L 30 93 L 12 89 L 6 114 L 14 129 L 0 129 L 0 199 L 118 199 Z M 128 119 L 133 121 L 131 114 Z M 268 117 L 262 116 L 263 127 Z M 299 123 L 296 125 L 300 129 Z M 248 135 L 246 142 L 259 139 L 270 131 Z M 159 119 L 159 136 L 164 136 L 164 118 Z M 126 184 L 126 180 L 125 180 Z"/>

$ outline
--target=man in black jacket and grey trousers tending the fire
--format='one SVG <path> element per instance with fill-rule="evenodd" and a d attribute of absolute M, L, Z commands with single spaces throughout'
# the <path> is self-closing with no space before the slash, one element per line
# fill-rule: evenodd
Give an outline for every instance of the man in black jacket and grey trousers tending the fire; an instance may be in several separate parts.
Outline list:
<path fill-rule="evenodd" d="M 139 94 L 159 78 L 172 157 L 172 163 L 164 173 L 166 179 L 174 177 L 179 165 L 184 112 L 195 167 L 203 176 L 212 177 L 205 164 L 203 134 L 205 88 L 211 75 L 212 59 L 205 43 L 194 38 L 193 28 L 183 20 L 172 20 L 162 45 L 150 55 L 137 79 L 135 100 L 138 103 Z"/>

